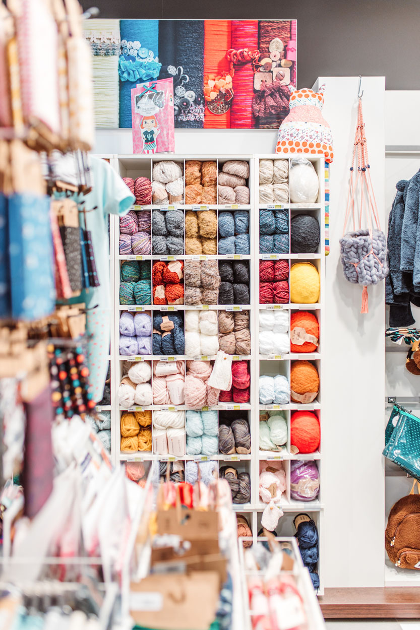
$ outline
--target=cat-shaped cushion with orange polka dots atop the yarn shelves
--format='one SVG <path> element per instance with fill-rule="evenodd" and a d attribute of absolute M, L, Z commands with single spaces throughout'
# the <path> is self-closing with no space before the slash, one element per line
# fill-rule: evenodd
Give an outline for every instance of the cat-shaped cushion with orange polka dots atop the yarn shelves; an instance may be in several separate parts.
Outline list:
<path fill-rule="evenodd" d="M 325 85 L 319 92 L 290 86 L 290 113 L 279 127 L 276 153 L 324 154 L 332 162 L 332 134 L 322 115 Z"/>

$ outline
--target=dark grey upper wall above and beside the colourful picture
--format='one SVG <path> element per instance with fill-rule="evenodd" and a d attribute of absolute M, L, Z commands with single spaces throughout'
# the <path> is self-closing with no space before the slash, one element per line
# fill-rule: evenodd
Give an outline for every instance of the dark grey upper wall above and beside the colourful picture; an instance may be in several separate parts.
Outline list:
<path fill-rule="evenodd" d="M 82 0 L 100 18 L 296 19 L 298 87 L 320 75 L 386 76 L 420 89 L 420 0 Z"/>

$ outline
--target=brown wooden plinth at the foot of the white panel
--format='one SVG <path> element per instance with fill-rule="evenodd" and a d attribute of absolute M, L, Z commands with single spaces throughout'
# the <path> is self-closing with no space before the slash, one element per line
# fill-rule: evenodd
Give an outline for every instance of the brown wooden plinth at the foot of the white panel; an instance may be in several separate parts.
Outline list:
<path fill-rule="evenodd" d="M 325 588 L 325 619 L 420 619 L 420 587 Z"/>

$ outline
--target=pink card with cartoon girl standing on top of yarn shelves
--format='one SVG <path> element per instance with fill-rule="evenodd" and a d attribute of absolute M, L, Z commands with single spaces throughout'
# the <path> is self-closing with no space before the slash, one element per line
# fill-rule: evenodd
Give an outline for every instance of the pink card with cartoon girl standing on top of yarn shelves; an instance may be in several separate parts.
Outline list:
<path fill-rule="evenodd" d="M 141 83 L 131 90 L 132 151 L 175 152 L 173 79 Z"/>

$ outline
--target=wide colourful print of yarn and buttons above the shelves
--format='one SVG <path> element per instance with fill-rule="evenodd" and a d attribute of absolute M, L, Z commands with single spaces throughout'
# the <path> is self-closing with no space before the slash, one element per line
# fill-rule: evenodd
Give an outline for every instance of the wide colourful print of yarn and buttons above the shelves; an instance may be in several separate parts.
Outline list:
<path fill-rule="evenodd" d="M 171 79 L 176 129 L 277 129 L 296 87 L 296 31 L 296 20 L 86 20 L 95 125 L 131 128 L 131 90 Z M 143 131 L 152 152 L 162 130 L 148 120 Z"/>

